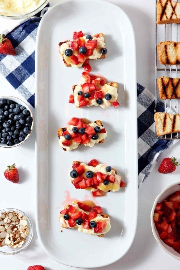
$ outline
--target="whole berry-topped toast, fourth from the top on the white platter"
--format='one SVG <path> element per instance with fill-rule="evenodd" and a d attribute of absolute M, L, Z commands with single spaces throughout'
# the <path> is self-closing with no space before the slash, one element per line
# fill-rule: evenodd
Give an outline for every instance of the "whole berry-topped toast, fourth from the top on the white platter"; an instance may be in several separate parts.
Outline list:
<path fill-rule="evenodd" d="M 96 159 L 88 164 L 73 161 L 69 177 L 75 188 L 92 191 L 94 197 L 104 196 L 107 191 L 118 191 L 125 184 L 116 169 L 99 164 Z"/>

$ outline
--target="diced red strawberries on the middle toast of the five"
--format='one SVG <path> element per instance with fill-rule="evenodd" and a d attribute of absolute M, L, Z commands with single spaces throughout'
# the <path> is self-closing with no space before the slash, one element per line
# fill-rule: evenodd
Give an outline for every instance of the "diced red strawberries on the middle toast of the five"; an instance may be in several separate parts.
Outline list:
<path fill-rule="evenodd" d="M 66 130 L 64 131 L 61 136 L 65 136 L 67 134 L 69 134 L 71 136 L 70 140 L 64 140 L 62 142 L 63 146 L 70 146 L 72 141 L 74 141 L 75 143 L 78 144 L 86 144 L 90 142 L 91 137 L 96 134 L 96 132 L 94 131 L 93 127 L 86 125 L 83 123 L 83 119 L 82 118 L 76 118 L 73 117 L 70 121 L 69 121 L 69 125 L 73 125 L 73 126 L 77 126 L 78 129 L 80 128 L 85 128 L 85 133 L 81 134 L 79 133 L 79 131 L 77 133 L 71 133 L 69 134 L 69 132 Z M 102 131 L 102 132 L 101 132 Z M 106 133 L 106 129 L 101 129 L 100 133 Z M 97 133 L 98 134 L 98 133 Z M 83 188 L 83 187 L 82 187 Z M 84 187 L 85 188 L 85 187 Z"/>

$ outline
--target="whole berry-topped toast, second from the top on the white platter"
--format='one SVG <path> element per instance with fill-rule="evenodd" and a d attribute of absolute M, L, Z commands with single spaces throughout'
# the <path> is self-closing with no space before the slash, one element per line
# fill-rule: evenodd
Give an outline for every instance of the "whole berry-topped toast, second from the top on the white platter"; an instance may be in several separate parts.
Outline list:
<path fill-rule="evenodd" d="M 106 82 L 103 77 L 82 73 L 80 84 L 73 85 L 73 94 L 69 103 L 74 103 L 77 108 L 101 106 L 103 109 L 111 105 L 118 107 L 118 83 Z"/>

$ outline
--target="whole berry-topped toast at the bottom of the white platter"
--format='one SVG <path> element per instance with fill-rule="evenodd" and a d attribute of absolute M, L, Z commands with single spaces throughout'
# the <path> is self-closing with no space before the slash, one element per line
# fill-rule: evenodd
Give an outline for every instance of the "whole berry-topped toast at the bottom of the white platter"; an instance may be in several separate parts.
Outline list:
<path fill-rule="evenodd" d="M 64 229 L 77 229 L 90 235 L 103 237 L 110 228 L 110 217 L 92 201 L 73 201 L 60 211 L 59 221 Z"/>

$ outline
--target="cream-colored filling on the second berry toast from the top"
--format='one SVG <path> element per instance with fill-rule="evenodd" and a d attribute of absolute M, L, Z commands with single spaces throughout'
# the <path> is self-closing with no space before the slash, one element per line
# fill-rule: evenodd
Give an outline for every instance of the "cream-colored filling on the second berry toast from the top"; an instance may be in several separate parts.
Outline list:
<path fill-rule="evenodd" d="M 79 91 L 83 91 L 81 85 L 76 85 L 75 89 L 74 89 L 74 104 L 76 105 L 76 107 L 80 107 L 80 102 L 78 101 L 78 92 Z M 110 86 L 108 84 L 105 84 L 104 86 L 102 86 L 100 88 L 100 91 L 103 92 L 104 94 L 104 97 L 102 98 L 103 100 L 103 103 L 100 105 L 100 104 L 97 104 L 96 102 L 96 99 L 88 99 L 88 98 L 84 98 L 84 100 L 88 100 L 89 101 L 89 104 L 87 105 L 87 107 L 90 107 L 90 106 L 101 106 L 103 109 L 104 108 L 107 108 L 109 106 L 111 106 L 112 102 L 116 101 L 117 100 L 117 88 L 114 87 L 114 86 Z M 111 94 L 112 98 L 110 100 L 106 100 L 105 99 L 105 95 L 109 93 Z"/>

